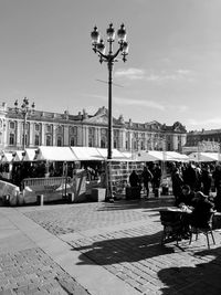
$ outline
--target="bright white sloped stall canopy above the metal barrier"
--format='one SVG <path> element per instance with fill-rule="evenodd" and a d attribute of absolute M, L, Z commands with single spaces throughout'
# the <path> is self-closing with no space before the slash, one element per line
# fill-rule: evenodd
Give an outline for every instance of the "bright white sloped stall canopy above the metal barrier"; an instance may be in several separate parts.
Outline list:
<path fill-rule="evenodd" d="M 78 159 L 70 147 L 39 147 L 35 160 L 48 161 L 77 161 Z"/>

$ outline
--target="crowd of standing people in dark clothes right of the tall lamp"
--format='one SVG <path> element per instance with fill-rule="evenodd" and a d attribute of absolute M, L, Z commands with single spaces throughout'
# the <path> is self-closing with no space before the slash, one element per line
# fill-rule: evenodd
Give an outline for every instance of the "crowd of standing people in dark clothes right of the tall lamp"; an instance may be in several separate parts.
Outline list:
<path fill-rule="evenodd" d="M 170 162 L 169 173 L 176 206 L 182 203 L 183 199 L 187 206 L 191 206 L 196 192 L 201 192 L 214 204 L 217 211 L 221 211 L 220 164 Z M 146 165 L 141 173 L 133 170 L 129 176 L 129 185 L 130 187 L 139 187 L 140 190 L 144 189 L 145 197 L 148 198 L 150 187 L 154 193 L 158 193 L 161 176 L 162 171 L 159 164 Z M 186 193 L 187 191 L 188 193 Z"/>

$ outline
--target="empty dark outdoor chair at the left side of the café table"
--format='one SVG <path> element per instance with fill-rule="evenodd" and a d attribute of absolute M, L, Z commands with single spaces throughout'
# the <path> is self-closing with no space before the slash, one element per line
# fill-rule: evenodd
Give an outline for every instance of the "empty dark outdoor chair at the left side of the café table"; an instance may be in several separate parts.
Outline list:
<path fill-rule="evenodd" d="M 160 212 L 160 221 L 164 225 L 162 236 L 161 236 L 161 245 L 166 242 L 181 240 L 183 223 L 182 215 L 178 212 L 172 211 L 159 211 Z"/>

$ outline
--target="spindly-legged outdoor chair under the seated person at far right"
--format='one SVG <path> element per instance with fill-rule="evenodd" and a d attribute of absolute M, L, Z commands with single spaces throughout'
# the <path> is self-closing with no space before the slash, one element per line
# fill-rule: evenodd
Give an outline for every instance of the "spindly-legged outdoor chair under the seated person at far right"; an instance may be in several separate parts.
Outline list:
<path fill-rule="evenodd" d="M 190 224 L 190 241 L 189 244 L 192 242 L 192 234 L 196 234 L 196 241 L 198 240 L 198 235 L 200 233 L 203 233 L 207 236 L 207 243 L 208 243 L 208 249 L 210 249 L 210 240 L 209 240 L 209 234 L 212 236 L 213 244 L 215 244 L 214 236 L 213 236 L 213 231 L 212 231 L 212 219 L 214 217 L 214 212 L 211 212 L 208 219 L 208 224 L 207 226 L 196 226 Z"/>

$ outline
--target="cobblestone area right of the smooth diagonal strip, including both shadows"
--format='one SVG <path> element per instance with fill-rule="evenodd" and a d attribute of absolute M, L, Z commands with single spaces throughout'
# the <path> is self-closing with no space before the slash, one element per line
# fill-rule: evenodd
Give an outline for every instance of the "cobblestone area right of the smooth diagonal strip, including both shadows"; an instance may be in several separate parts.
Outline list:
<path fill-rule="evenodd" d="M 179 246 L 175 242 L 161 246 L 162 226 L 156 204 L 141 201 L 45 207 L 30 209 L 25 215 L 60 239 L 81 233 L 67 241 L 81 253 L 80 264 L 96 263 L 140 294 L 221 293 L 221 232 L 214 232 L 215 245 L 210 250 L 203 235 L 191 245 L 183 240 Z M 105 226 L 109 226 L 106 232 Z"/>

